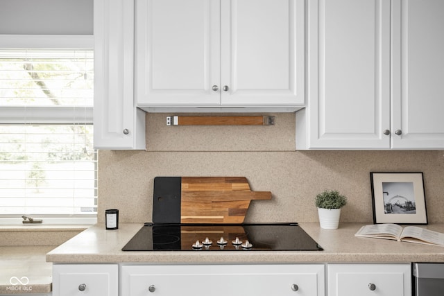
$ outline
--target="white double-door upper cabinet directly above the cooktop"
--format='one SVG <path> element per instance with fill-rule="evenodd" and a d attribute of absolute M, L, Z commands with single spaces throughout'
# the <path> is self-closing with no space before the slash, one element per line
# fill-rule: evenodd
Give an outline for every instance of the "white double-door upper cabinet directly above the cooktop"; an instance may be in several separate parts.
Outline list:
<path fill-rule="evenodd" d="M 303 106 L 303 0 L 136 0 L 135 14 L 139 107 Z"/>

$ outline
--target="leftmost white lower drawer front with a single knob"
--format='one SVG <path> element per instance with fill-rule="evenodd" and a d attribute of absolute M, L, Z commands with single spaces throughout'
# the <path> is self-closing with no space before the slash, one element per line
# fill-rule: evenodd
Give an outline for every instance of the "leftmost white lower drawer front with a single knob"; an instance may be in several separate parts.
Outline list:
<path fill-rule="evenodd" d="M 53 265 L 53 296 L 118 296 L 117 264 Z"/>

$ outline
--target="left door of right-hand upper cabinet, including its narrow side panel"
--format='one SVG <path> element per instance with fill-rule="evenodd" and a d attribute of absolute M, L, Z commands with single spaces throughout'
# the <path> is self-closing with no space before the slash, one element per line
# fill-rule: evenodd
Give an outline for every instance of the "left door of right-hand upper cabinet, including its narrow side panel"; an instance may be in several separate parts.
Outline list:
<path fill-rule="evenodd" d="M 296 148 L 388 149 L 390 1 L 317 0 L 308 11 L 308 101 L 296 114 Z"/>

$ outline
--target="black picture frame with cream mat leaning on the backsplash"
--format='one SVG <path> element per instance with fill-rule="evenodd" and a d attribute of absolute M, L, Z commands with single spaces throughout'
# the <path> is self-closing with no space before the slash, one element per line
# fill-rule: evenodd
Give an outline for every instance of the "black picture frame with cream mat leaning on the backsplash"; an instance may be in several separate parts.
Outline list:
<path fill-rule="evenodd" d="M 373 223 L 426 225 L 424 176 L 370 172 Z"/>

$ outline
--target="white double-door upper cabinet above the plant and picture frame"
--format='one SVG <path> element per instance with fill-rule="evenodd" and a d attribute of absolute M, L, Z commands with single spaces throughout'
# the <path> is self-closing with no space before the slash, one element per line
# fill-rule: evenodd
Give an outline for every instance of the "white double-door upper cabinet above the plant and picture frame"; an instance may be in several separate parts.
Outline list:
<path fill-rule="evenodd" d="M 309 1 L 296 149 L 444 148 L 444 1 Z"/>

